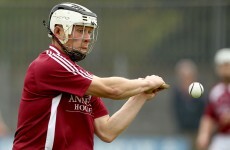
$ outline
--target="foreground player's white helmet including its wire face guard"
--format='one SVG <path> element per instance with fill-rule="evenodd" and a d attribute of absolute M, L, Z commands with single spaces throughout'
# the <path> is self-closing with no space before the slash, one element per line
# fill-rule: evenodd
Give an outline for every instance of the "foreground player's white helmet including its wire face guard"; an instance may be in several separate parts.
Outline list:
<path fill-rule="evenodd" d="M 61 4 L 54 6 L 49 15 L 49 28 L 52 32 L 54 32 L 54 28 L 56 25 L 62 25 L 64 29 L 66 38 L 63 40 L 58 39 L 61 44 L 65 44 L 69 40 L 68 37 L 69 35 L 72 34 L 72 31 L 75 26 L 83 26 L 83 28 L 92 27 L 93 33 L 91 34 L 91 37 L 89 39 L 90 44 L 88 47 L 88 51 L 86 54 L 82 54 L 82 55 L 87 55 L 88 53 L 91 52 L 93 45 L 95 41 L 97 40 L 98 27 L 97 27 L 97 16 L 95 13 L 91 12 L 89 9 L 85 8 L 84 6 L 81 6 L 78 4 L 61 3 Z M 52 36 L 54 35 L 49 34 L 49 37 L 52 37 Z M 76 40 L 84 40 L 83 37 L 84 37 L 84 33 L 82 35 L 82 38 L 76 39 Z M 74 49 L 73 47 L 72 48 L 65 47 L 64 51 L 68 55 L 70 55 L 70 53 L 80 53 L 81 55 L 80 50 Z M 79 60 L 74 60 L 74 61 L 79 61 Z"/>

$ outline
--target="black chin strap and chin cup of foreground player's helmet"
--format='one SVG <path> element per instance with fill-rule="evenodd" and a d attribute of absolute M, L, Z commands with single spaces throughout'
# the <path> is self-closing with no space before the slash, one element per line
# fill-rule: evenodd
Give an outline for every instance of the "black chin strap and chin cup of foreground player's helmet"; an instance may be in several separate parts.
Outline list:
<path fill-rule="evenodd" d="M 60 40 L 54 35 L 54 33 L 51 31 L 51 29 L 46 25 L 45 20 L 43 20 L 43 25 L 48 29 L 48 33 L 54 38 L 54 40 L 61 46 L 63 51 L 70 57 L 70 59 L 74 62 L 78 62 L 83 60 L 86 55 L 79 52 L 78 50 L 72 50 L 69 51 L 67 48 L 60 42 Z"/>

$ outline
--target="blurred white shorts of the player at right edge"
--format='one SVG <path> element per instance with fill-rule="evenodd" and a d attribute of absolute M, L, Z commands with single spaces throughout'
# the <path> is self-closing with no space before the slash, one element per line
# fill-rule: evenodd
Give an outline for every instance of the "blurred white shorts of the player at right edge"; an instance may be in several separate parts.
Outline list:
<path fill-rule="evenodd" d="M 230 150 L 230 135 L 215 135 L 211 141 L 209 150 Z"/>

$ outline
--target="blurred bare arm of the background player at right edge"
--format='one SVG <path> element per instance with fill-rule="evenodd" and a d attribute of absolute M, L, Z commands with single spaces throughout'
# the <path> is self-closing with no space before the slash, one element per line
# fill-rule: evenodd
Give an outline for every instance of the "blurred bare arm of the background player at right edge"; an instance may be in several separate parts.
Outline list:
<path fill-rule="evenodd" d="M 199 150 L 206 149 L 215 129 L 215 123 L 209 116 L 203 116 L 198 131 L 197 147 Z"/>

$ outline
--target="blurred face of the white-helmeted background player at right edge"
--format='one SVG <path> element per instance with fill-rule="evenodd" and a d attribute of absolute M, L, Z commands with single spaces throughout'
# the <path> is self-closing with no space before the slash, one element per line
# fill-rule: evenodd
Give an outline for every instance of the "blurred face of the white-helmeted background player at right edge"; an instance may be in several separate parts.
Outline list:
<path fill-rule="evenodd" d="M 230 83 L 230 63 L 217 66 L 218 76 L 227 83 Z"/>

